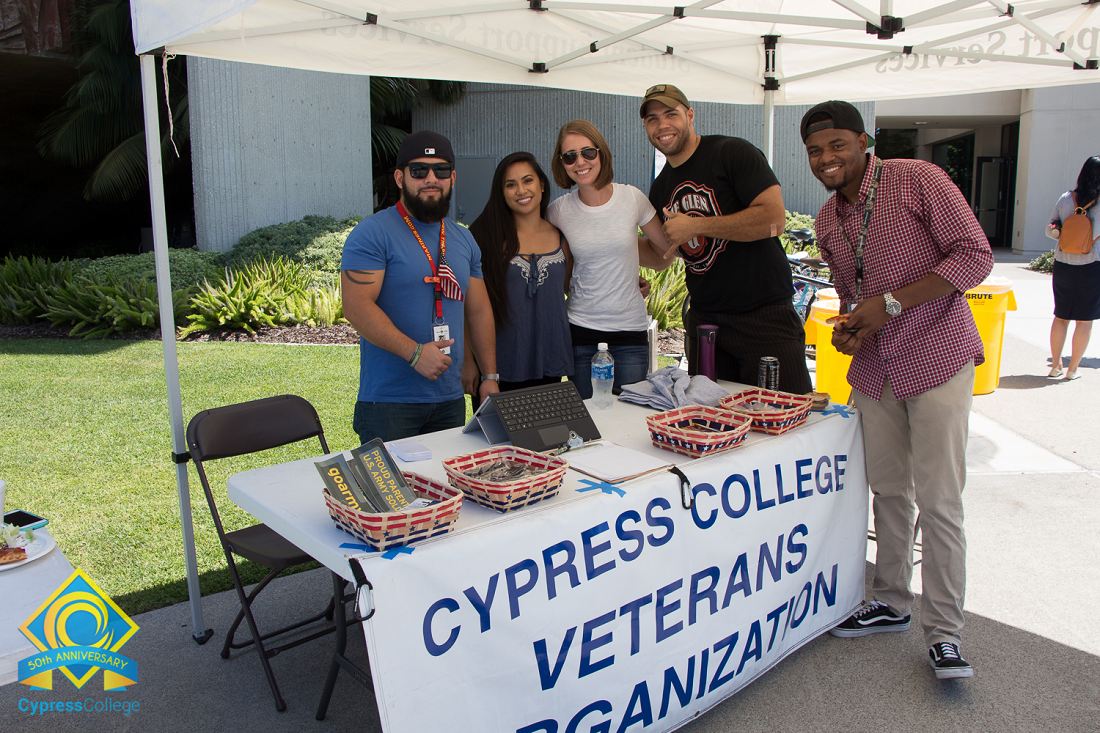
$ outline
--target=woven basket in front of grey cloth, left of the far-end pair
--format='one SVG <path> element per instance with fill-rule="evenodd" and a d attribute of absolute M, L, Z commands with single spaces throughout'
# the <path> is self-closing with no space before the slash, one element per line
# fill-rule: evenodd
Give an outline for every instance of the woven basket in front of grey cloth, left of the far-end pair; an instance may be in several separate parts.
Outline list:
<path fill-rule="evenodd" d="M 715 407 L 689 405 L 647 415 L 646 424 L 658 448 L 700 458 L 739 446 L 751 420 Z"/>

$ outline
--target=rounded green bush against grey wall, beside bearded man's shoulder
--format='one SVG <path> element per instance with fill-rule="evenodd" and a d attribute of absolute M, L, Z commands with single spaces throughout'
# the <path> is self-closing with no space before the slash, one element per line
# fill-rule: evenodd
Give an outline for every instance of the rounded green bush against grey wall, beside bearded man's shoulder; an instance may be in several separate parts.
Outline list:
<path fill-rule="evenodd" d="M 273 261 L 283 258 L 287 262 L 304 264 L 314 273 L 328 275 L 315 280 L 333 284 L 334 275 L 340 272 L 344 240 L 360 220 L 362 217 L 338 220 L 307 216 L 299 221 L 256 229 L 240 239 L 228 253 L 226 263 L 239 266 L 260 259 Z"/>

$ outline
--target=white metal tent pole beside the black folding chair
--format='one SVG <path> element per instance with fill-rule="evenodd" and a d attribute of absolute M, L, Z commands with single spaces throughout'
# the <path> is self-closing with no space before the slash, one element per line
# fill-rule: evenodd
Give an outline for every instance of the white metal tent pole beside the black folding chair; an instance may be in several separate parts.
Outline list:
<path fill-rule="evenodd" d="M 164 169 L 161 164 L 161 118 L 156 100 L 156 59 L 141 57 L 142 106 L 145 111 L 145 157 L 148 164 L 148 199 L 153 211 L 153 252 L 156 262 L 156 299 L 161 306 L 161 343 L 164 347 L 164 379 L 168 387 L 168 422 L 172 426 L 172 452 L 186 456 L 184 408 L 179 396 L 179 361 L 176 354 L 176 317 L 172 302 L 172 273 L 168 270 L 168 228 L 164 215 Z M 165 100 L 167 102 L 167 100 Z M 199 594 L 198 564 L 195 560 L 195 530 L 191 526 L 191 494 L 187 485 L 187 463 L 176 462 L 176 490 L 179 494 L 179 524 L 184 532 L 184 559 L 187 564 L 187 595 L 191 602 L 191 637 L 205 644 L 213 631 L 202 631 L 202 599 Z"/>

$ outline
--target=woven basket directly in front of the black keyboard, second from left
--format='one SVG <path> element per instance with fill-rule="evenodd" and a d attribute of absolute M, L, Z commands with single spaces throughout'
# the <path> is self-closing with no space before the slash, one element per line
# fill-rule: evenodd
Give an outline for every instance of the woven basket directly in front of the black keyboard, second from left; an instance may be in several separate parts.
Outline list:
<path fill-rule="evenodd" d="M 483 481 L 473 479 L 464 472 L 477 466 L 498 460 L 512 460 L 547 469 L 546 473 L 532 475 L 517 481 Z M 561 489 L 562 479 L 569 463 L 554 456 L 543 456 L 526 448 L 504 446 L 479 450 L 465 456 L 455 456 L 443 461 L 447 478 L 452 486 L 462 490 L 466 497 L 475 504 L 481 504 L 497 512 L 510 512 L 521 506 L 530 506 L 543 499 L 557 495 Z"/>

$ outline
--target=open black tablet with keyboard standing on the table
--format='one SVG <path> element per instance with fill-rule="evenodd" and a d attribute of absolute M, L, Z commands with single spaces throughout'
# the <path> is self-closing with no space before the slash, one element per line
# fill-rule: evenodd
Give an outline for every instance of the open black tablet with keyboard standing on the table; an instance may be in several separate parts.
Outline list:
<path fill-rule="evenodd" d="M 559 448 L 570 431 L 586 441 L 601 437 L 576 385 L 568 381 L 491 394 L 462 428 L 476 430 L 491 444 L 510 440 L 540 452 Z"/>

